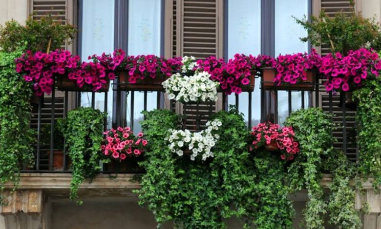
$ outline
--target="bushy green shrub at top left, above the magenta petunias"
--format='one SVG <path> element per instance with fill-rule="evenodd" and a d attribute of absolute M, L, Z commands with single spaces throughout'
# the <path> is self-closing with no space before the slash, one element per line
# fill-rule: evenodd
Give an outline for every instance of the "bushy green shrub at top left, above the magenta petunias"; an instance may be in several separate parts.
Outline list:
<path fill-rule="evenodd" d="M 49 45 L 50 50 L 55 50 L 65 42 L 70 44 L 76 33 L 77 29 L 73 25 L 63 24 L 50 15 L 42 16 L 39 20 L 31 16 L 25 25 L 12 19 L 0 25 L 0 47 L 5 52 L 13 52 L 20 45 L 32 52 L 46 51 Z"/>

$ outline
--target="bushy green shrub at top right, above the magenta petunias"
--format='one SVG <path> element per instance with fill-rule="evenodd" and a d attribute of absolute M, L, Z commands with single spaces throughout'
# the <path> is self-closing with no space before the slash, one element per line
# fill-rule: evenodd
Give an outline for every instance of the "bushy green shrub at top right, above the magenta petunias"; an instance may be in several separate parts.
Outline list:
<path fill-rule="evenodd" d="M 380 24 L 375 18 L 367 19 L 361 13 L 356 13 L 354 6 L 354 0 L 350 0 L 350 12 L 339 12 L 334 17 L 321 11 L 318 17 L 311 15 L 310 19 L 295 18 L 296 23 L 302 25 L 308 33 L 301 40 L 310 41 L 316 46 L 327 44 L 332 53 L 347 54 L 349 50 L 361 47 L 380 50 Z"/>

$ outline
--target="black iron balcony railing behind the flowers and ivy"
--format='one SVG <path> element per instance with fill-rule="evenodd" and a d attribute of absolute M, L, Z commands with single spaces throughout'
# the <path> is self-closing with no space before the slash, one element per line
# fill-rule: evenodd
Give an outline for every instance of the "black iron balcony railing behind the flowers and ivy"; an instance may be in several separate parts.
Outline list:
<path fill-rule="evenodd" d="M 321 82 L 320 82 L 321 83 Z M 265 91 L 261 90 L 261 102 L 257 104 L 258 109 L 261 109 L 261 121 L 266 120 L 277 120 L 278 119 L 278 104 L 277 104 L 277 90 Z M 292 91 L 286 91 L 288 93 L 288 113 L 292 112 Z M 315 91 L 300 91 L 301 92 L 301 108 L 307 107 L 320 107 L 326 112 L 334 114 L 333 122 L 339 124 L 339 128 L 332 133 L 334 137 L 338 139 L 338 142 L 335 143 L 335 147 L 343 150 L 347 153 L 348 157 L 351 160 L 357 160 L 357 146 L 355 136 L 353 132 L 355 128 L 355 112 L 348 111 L 345 106 L 340 106 L 344 104 L 345 96 L 342 94 L 334 95 L 332 92 L 326 93 L 324 87 L 316 83 Z M 110 126 L 124 126 L 128 125 L 131 128 L 136 123 L 136 117 L 134 117 L 134 107 L 135 103 L 140 103 L 141 100 L 137 101 L 135 96 L 143 96 L 143 104 L 139 104 L 140 107 L 143 107 L 142 110 L 146 111 L 149 108 L 164 108 L 169 107 L 174 110 L 174 103 L 171 101 L 169 106 L 165 106 L 165 99 L 163 93 L 155 92 L 155 94 L 150 94 L 151 92 L 126 92 L 119 90 L 117 83 L 113 84 L 113 90 L 108 93 L 97 93 L 97 96 L 104 96 L 103 110 L 107 111 L 109 106 L 107 99 L 108 96 L 113 96 L 113 118 L 112 121 L 105 118 L 104 129 L 106 130 Z M 239 96 L 248 95 L 247 104 L 239 103 Z M 95 108 L 96 100 L 95 93 L 89 93 L 91 95 L 91 102 L 89 106 Z M 235 105 L 237 107 L 247 106 L 248 108 L 248 127 L 254 125 L 252 123 L 252 93 L 244 92 L 240 95 L 230 95 L 235 96 Z M 71 99 L 71 97 L 76 97 L 76 99 Z M 153 97 L 156 97 L 152 101 Z M 69 100 L 70 103 L 69 103 Z M 73 103 L 73 104 L 72 104 Z M 227 109 L 228 99 L 226 96 L 223 96 L 222 104 L 225 109 Z M 38 132 L 37 134 L 37 144 L 35 149 L 35 164 L 32 169 L 25 169 L 22 172 L 70 172 L 69 165 L 70 159 L 67 155 L 67 148 L 63 142 L 55 142 L 55 125 L 58 118 L 64 118 L 67 115 L 69 109 L 78 107 L 81 105 L 81 95 L 79 92 L 62 92 L 57 89 L 53 89 L 50 96 L 45 96 L 40 98 L 39 103 L 33 105 L 33 120 L 31 125 Z M 99 107 L 99 106 L 97 106 Z M 127 108 L 127 109 L 126 109 Z M 214 107 L 213 107 L 214 109 Z M 127 112 L 128 111 L 128 112 Z M 186 112 L 186 111 L 185 111 Z M 127 114 L 129 113 L 129 115 Z M 111 123 L 110 123 L 111 122 Z M 42 133 L 42 127 L 48 126 L 50 129 L 49 136 L 46 136 Z M 49 139 L 46 139 L 49 138 Z M 44 142 L 49 142 L 48 144 L 43 144 Z M 57 146 L 61 145 L 62 148 L 62 157 L 63 157 L 63 168 L 55 169 L 54 166 L 54 156 L 55 152 L 60 151 Z M 134 172 L 143 172 L 137 165 L 137 160 L 129 162 L 131 163 L 128 167 L 128 171 L 123 171 L 127 173 Z M 121 172 L 118 168 L 110 169 L 107 168 L 107 165 L 102 165 L 102 173 L 112 173 L 112 172 Z"/>

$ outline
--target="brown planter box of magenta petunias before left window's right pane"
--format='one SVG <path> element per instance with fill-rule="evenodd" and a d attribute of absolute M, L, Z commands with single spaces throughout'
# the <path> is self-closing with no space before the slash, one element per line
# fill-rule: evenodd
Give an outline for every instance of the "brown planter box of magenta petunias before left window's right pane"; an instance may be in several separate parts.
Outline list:
<path fill-rule="evenodd" d="M 124 91 L 164 91 L 162 83 L 168 79 L 168 76 L 157 76 L 156 78 L 147 77 L 144 80 L 137 78 L 136 83 L 128 81 L 127 72 L 119 73 L 119 88 Z"/>

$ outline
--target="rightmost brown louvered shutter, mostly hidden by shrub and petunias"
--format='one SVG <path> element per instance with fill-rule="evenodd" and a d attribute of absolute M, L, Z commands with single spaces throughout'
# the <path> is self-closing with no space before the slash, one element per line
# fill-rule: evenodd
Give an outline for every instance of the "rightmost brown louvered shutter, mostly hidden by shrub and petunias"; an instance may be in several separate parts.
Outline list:
<path fill-rule="evenodd" d="M 349 0 L 321 0 L 320 5 L 321 10 L 324 10 L 330 17 L 335 16 L 338 12 L 350 12 L 350 3 Z M 315 14 L 318 14 L 317 10 L 314 10 Z M 329 51 L 329 46 L 324 44 L 321 46 L 321 55 L 325 56 Z M 322 82 L 321 82 L 322 83 Z M 335 115 L 333 118 L 333 122 L 337 124 L 339 127 L 336 131 L 334 131 L 333 135 L 337 138 L 338 142 L 334 144 L 337 149 L 343 149 L 343 110 L 339 106 L 340 103 L 340 94 L 332 95 L 332 98 L 324 92 L 324 87 L 320 84 L 320 107 L 326 111 L 331 112 Z M 329 101 L 332 100 L 332 106 L 330 107 Z M 345 111 L 345 123 L 346 123 L 346 154 L 349 159 L 356 160 L 356 123 L 355 123 L 355 115 L 354 111 Z"/>

